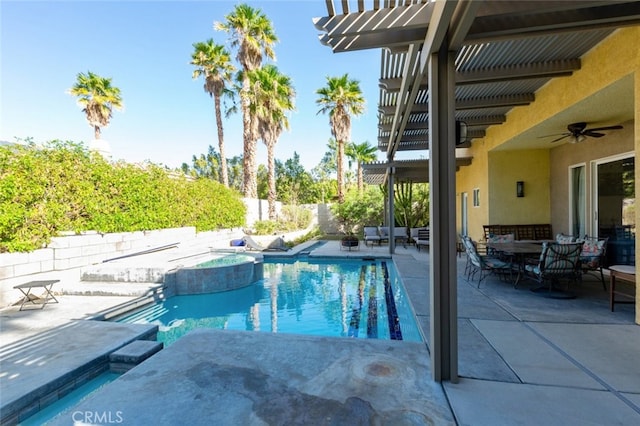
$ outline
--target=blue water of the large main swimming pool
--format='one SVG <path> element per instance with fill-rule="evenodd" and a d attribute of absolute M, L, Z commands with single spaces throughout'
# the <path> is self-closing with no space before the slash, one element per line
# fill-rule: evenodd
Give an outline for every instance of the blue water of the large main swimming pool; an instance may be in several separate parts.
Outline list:
<path fill-rule="evenodd" d="M 265 260 L 251 286 L 174 296 L 120 321 L 157 324 L 165 345 L 196 328 L 422 341 L 393 263 L 380 259 Z"/>

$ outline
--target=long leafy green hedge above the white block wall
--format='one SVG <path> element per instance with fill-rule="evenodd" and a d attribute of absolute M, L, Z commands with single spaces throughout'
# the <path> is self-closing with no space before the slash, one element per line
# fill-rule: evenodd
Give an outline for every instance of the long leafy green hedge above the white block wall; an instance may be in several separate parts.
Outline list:
<path fill-rule="evenodd" d="M 73 142 L 0 147 L 0 252 L 30 251 L 61 231 L 243 226 L 240 194 L 153 164 L 109 163 Z"/>

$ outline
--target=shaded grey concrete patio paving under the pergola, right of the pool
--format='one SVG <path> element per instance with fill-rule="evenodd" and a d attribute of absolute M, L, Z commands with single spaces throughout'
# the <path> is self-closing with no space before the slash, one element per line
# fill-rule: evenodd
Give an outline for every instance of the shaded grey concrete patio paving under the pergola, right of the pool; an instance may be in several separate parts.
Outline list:
<path fill-rule="evenodd" d="M 428 337 L 428 258 L 406 253 L 394 259 Z M 532 280 L 514 288 L 493 275 L 478 289 L 463 276 L 465 262 L 458 258 L 460 381 L 443 383 L 459 424 L 640 422 L 633 305 L 611 312 L 608 291 L 589 275 L 569 300 L 530 291 Z"/>

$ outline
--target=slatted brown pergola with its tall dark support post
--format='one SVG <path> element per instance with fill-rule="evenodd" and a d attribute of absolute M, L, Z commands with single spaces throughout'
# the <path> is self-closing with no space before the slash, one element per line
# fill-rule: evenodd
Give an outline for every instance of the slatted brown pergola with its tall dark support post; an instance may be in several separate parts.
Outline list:
<path fill-rule="evenodd" d="M 465 144 L 533 102 L 551 79 L 580 69 L 580 58 L 615 29 L 638 25 L 640 2 L 336 4 L 341 11 L 326 0 L 327 16 L 314 19 L 320 42 L 336 53 L 381 49 L 378 147 L 387 158 L 364 166 L 367 181 L 389 186 L 389 218 L 394 181 L 430 182 L 432 374 L 456 381 L 455 171 L 473 161 Z M 466 124 L 466 138 L 456 137 L 457 122 Z M 541 134 L 557 132 L 551 124 L 541 124 Z M 395 159 L 409 150 L 429 150 L 429 159 Z"/>

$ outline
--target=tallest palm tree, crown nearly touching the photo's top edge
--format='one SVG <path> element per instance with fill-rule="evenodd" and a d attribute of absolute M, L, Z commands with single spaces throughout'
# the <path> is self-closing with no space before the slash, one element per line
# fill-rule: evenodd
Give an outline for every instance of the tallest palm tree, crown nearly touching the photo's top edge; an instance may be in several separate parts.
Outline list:
<path fill-rule="evenodd" d="M 248 73 L 262 65 L 262 56 L 275 59 L 273 45 L 278 41 L 271 21 L 260 9 L 247 4 L 236 5 L 233 12 L 225 17 L 225 22 L 215 22 L 216 30 L 225 31 L 231 36 L 231 47 L 238 49 L 237 59 L 242 66 L 240 73 L 242 89 L 240 101 L 242 107 L 242 140 L 244 143 L 244 196 L 256 198 L 256 128 L 251 123 L 249 95 L 251 84 Z"/>

